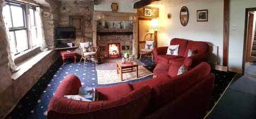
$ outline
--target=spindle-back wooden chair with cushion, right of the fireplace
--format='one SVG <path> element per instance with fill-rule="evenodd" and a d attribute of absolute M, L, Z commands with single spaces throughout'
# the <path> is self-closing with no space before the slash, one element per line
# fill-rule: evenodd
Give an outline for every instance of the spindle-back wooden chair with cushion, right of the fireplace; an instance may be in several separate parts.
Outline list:
<path fill-rule="evenodd" d="M 151 54 L 151 58 L 152 58 L 152 62 L 154 62 L 153 60 L 153 49 L 155 47 L 155 34 L 154 33 L 147 33 L 147 35 L 144 37 L 143 41 L 139 41 L 140 44 L 140 58 L 141 55 L 145 55 L 147 56 L 147 54 Z"/>

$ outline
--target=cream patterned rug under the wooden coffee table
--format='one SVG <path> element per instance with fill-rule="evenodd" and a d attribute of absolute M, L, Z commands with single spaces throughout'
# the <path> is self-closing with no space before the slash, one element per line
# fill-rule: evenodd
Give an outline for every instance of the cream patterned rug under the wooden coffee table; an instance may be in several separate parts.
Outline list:
<path fill-rule="evenodd" d="M 144 78 L 153 73 L 148 71 L 144 66 L 138 66 L 138 77 Z M 137 78 L 136 72 L 123 73 L 123 81 L 120 79 L 120 74 L 116 70 L 97 70 L 98 84 L 110 84 L 131 81 Z"/>

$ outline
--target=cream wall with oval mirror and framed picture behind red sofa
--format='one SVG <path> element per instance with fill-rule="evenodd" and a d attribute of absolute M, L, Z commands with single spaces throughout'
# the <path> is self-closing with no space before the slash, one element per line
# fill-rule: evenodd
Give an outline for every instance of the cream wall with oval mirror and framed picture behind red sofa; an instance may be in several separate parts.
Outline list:
<path fill-rule="evenodd" d="M 158 1 L 155 7 L 159 7 L 159 24 L 162 30 L 158 32 L 159 46 L 167 46 L 172 38 L 185 38 L 191 40 L 206 41 L 209 44 L 219 46 L 219 59 L 222 65 L 223 54 L 223 0 L 182 0 L 182 1 Z M 182 6 L 187 6 L 189 21 L 186 27 L 180 24 L 179 13 Z M 230 0 L 230 33 L 228 66 L 242 69 L 244 19 L 245 8 L 256 7 L 255 0 Z M 197 22 L 196 11 L 208 10 L 208 22 Z M 172 18 L 167 19 L 167 13 Z M 231 27 L 236 30 L 231 30 Z"/>

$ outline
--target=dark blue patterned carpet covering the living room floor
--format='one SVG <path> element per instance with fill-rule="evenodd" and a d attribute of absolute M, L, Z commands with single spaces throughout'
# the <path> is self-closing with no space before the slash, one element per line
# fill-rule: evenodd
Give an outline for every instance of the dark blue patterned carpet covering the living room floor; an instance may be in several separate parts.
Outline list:
<path fill-rule="evenodd" d="M 145 67 L 153 72 L 155 64 L 149 57 L 142 57 L 141 62 L 145 64 Z M 86 61 L 86 67 L 83 67 L 83 63 L 74 64 L 73 61 L 65 61 L 65 65 L 62 65 L 60 61 L 55 62 L 50 69 L 41 77 L 38 82 L 27 92 L 27 94 L 19 101 L 18 105 L 13 111 L 5 118 L 47 118 L 47 105 L 61 80 L 67 74 L 75 74 L 82 82 L 83 87 L 100 87 L 110 86 L 114 84 L 98 85 L 97 71 L 95 70 L 94 62 Z M 212 70 L 216 75 L 215 89 L 213 92 L 211 104 L 209 110 L 213 107 L 225 88 L 228 86 L 231 79 L 234 77 L 233 72 L 222 72 Z M 128 83 L 151 79 L 150 75 L 146 78 L 127 81 Z M 117 83 L 116 83 L 117 84 Z"/>

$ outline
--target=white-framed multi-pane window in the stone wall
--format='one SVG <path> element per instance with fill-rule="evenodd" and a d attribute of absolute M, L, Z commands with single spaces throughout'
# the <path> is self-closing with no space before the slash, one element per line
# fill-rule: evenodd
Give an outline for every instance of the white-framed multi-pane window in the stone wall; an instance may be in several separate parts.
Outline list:
<path fill-rule="evenodd" d="M 12 54 L 18 55 L 38 46 L 37 14 L 36 6 L 6 1 L 3 16 L 9 29 Z"/>

